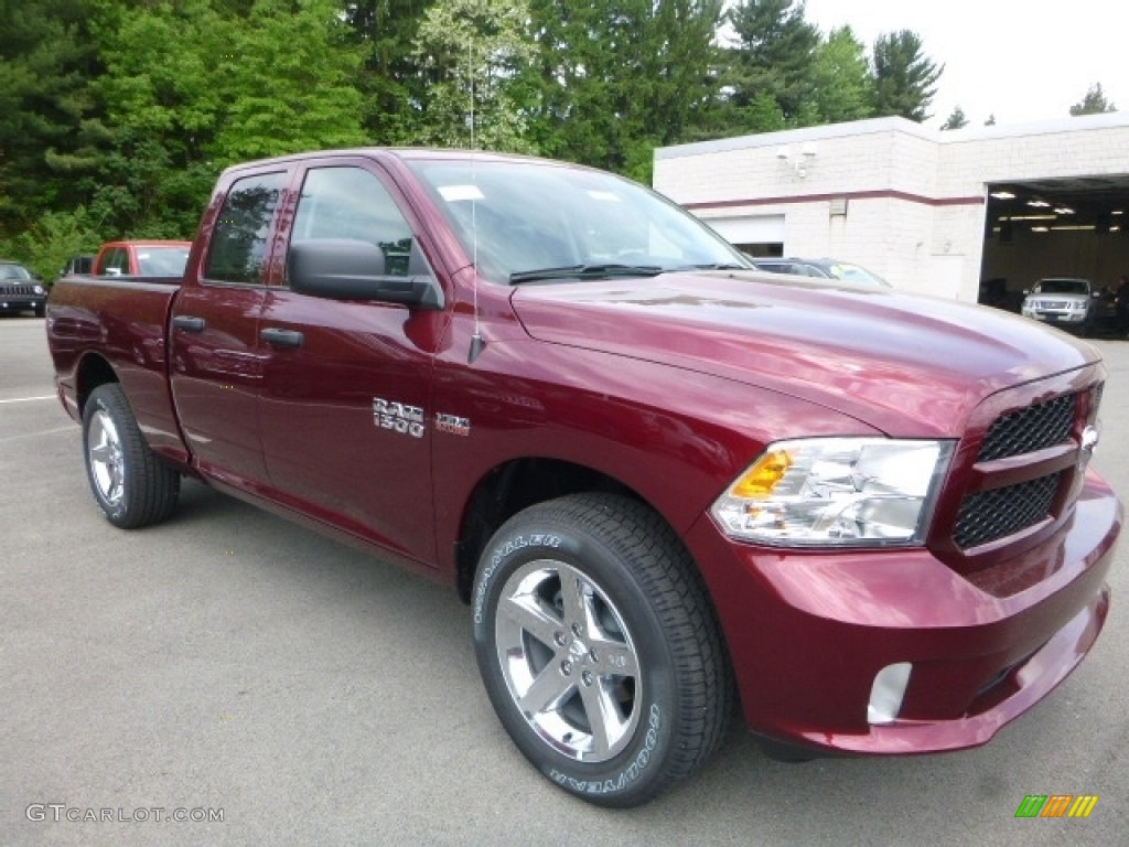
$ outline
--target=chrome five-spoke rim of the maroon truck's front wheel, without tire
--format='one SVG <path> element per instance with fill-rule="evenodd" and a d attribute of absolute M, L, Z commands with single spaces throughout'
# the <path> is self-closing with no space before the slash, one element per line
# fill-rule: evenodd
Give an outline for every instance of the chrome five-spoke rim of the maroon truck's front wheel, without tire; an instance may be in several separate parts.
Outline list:
<path fill-rule="evenodd" d="M 589 577 L 562 561 L 525 564 L 502 587 L 495 632 L 510 697 L 542 741 L 585 762 L 630 743 L 639 657 L 623 615 Z"/>

